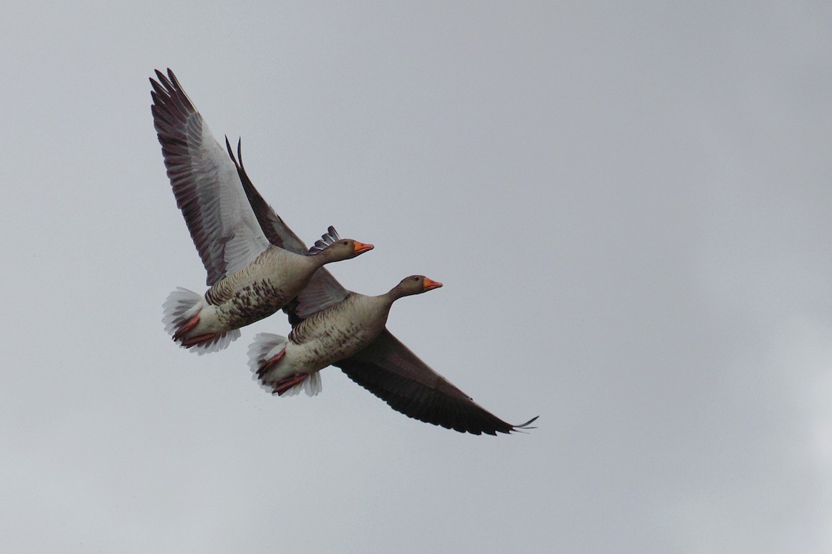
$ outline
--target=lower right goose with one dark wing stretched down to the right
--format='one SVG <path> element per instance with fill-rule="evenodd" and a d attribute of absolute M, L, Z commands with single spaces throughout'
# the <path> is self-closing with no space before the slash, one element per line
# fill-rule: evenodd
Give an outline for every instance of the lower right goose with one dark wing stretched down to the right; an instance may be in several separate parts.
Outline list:
<path fill-rule="evenodd" d="M 242 159 L 239 143 L 237 154 Z M 304 243 L 260 196 L 243 165 L 236 165 L 265 236 L 287 250 L 305 252 Z M 283 308 L 294 328 L 288 340 L 270 334 L 255 337 L 249 348 L 249 365 L 255 380 L 265 379 L 265 388 L 273 394 L 295 394 L 302 388 L 308 395 L 314 395 L 321 388 L 318 370 L 334 365 L 391 408 L 429 424 L 471 434 L 508 434 L 534 429 L 530 425 L 537 417 L 513 425 L 483 409 L 387 330 L 386 310 L 396 297 L 436 287 L 441 284 L 412 276 L 387 295 L 364 297 L 342 287 L 326 268 L 319 269 L 310 284 Z M 374 303 L 374 309 L 367 308 Z M 351 316 L 345 316 L 347 313 Z M 334 329 L 335 326 L 338 328 Z M 328 332 L 338 333 L 340 338 L 326 338 Z M 315 353 L 310 346 L 314 341 L 319 346 L 331 345 L 332 350 Z M 304 365 L 305 356 L 314 358 L 308 366 Z M 291 369 L 288 369 L 290 365 L 283 365 L 287 362 L 292 364 Z"/>

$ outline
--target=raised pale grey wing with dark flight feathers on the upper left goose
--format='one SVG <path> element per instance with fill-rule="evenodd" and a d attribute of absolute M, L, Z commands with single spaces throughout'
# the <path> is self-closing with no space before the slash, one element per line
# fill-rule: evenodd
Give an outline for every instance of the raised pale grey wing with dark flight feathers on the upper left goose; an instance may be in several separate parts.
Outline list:
<path fill-rule="evenodd" d="M 153 125 L 176 205 L 208 272 L 207 283 L 245 267 L 269 246 L 222 147 L 171 70 L 151 79 Z M 170 77 L 170 78 L 168 78 Z"/>

